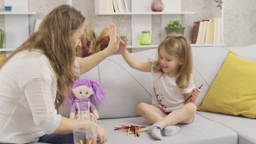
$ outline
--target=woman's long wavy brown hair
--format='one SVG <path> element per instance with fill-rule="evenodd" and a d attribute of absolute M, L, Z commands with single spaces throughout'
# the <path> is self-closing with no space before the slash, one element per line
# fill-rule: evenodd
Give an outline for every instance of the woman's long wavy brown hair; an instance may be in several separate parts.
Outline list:
<path fill-rule="evenodd" d="M 56 75 L 55 109 L 59 110 L 65 99 L 64 93 L 69 95 L 74 80 L 78 79 L 74 72 L 75 49 L 72 48 L 69 38 L 79 27 L 83 26 L 84 21 L 85 17 L 80 11 L 69 5 L 56 7 L 45 16 L 38 31 L 30 35 L 18 49 L 5 58 L 0 69 L 18 52 L 40 50 L 49 59 Z"/>

